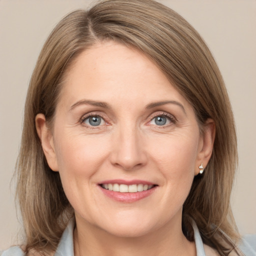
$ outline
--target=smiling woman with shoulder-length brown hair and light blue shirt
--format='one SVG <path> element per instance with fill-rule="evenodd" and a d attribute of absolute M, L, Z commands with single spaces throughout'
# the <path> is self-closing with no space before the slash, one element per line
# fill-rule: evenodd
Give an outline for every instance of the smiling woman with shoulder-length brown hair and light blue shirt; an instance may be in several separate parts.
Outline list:
<path fill-rule="evenodd" d="M 31 77 L 26 241 L 2 255 L 253 255 L 229 206 L 236 158 L 221 75 L 182 17 L 151 0 L 74 11 Z"/>

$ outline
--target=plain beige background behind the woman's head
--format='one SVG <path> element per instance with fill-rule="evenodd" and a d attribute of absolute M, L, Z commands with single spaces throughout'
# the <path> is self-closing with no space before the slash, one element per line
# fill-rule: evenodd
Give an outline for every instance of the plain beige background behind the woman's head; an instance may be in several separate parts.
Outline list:
<path fill-rule="evenodd" d="M 256 233 L 256 1 L 161 2 L 199 31 L 222 72 L 239 146 L 239 169 L 231 203 L 240 232 Z M 67 12 L 89 4 L 91 0 L 0 0 L 0 249 L 18 238 L 10 180 L 29 77 L 39 50 L 57 21 Z"/>

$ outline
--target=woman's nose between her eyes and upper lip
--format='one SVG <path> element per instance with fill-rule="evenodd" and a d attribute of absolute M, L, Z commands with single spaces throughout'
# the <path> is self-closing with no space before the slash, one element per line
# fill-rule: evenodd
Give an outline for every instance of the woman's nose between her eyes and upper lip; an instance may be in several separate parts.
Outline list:
<path fill-rule="evenodd" d="M 135 127 L 119 127 L 112 139 L 110 161 L 123 170 L 135 170 L 147 162 L 141 131 Z"/>

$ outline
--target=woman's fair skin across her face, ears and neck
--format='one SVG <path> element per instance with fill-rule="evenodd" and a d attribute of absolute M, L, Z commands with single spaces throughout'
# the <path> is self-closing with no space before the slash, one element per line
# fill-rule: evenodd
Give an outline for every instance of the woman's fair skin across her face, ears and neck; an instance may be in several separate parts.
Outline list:
<path fill-rule="evenodd" d="M 36 128 L 74 208 L 75 255 L 196 254 L 182 204 L 210 158 L 214 123 L 201 134 L 191 105 L 146 56 L 111 41 L 85 50 L 66 74 L 53 127 L 37 114 Z"/>

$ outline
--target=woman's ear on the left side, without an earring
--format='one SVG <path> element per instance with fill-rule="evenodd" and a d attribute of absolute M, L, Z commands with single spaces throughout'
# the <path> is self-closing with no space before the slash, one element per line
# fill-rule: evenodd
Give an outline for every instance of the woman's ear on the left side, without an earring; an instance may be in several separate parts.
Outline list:
<path fill-rule="evenodd" d="M 40 138 L 42 150 L 47 160 L 49 167 L 58 171 L 57 158 L 53 143 L 52 132 L 46 124 L 45 116 L 42 113 L 39 113 L 35 116 L 35 127 Z"/>

